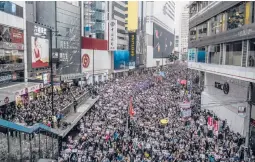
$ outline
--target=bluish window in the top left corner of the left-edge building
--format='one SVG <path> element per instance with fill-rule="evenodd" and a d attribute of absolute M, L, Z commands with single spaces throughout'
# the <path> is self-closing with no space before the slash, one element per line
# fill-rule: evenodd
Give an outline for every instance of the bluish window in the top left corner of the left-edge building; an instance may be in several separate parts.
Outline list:
<path fill-rule="evenodd" d="M 23 7 L 9 1 L 0 2 L 0 11 L 23 18 Z"/>

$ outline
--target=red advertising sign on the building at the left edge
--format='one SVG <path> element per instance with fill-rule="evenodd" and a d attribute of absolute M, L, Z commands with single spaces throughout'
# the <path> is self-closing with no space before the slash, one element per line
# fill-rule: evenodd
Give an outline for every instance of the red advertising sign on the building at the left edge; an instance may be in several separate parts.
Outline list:
<path fill-rule="evenodd" d="M 0 41 L 24 44 L 23 30 L 0 25 Z"/>

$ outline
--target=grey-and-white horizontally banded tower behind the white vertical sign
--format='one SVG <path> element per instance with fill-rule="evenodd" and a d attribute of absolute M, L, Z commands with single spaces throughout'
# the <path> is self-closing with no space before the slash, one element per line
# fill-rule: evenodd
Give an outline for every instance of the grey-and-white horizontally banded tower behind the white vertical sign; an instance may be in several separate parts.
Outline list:
<path fill-rule="evenodd" d="M 108 1 L 108 20 L 117 20 L 117 49 L 128 49 L 128 35 L 125 28 L 127 1 Z"/>

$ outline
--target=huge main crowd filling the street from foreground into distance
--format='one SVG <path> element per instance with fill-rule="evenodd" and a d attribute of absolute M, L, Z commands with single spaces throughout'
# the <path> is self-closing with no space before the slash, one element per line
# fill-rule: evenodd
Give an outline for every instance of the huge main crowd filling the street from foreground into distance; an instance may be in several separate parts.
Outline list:
<path fill-rule="evenodd" d="M 211 112 L 200 108 L 197 73 L 176 65 L 164 67 L 165 77 L 155 79 L 156 71 L 101 86 L 98 103 L 63 143 L 59 161 L 241 161 L 244 138 L 225 122 L 218 135 L 207 126 Z M 189 80 L 187 87 L 180 84 L 181 79 Z M 192 103 L 190 117 L 181 116 L 180 102 Z M 162 124 L 161 119 L 168 123 Z"/>

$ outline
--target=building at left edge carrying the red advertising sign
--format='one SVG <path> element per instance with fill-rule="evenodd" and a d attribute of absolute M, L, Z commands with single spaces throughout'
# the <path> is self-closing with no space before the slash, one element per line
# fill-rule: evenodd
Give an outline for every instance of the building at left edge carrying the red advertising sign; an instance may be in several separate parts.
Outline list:
<path fill-rule="evenodd" d="M 15 101 L 17 88 L 27 82 L 25 2 L 0 2 L 0 107 Z M 23 85 L 24 87 L 24 85 Z M 14 91 L 13 91 L 14 90 Z"/>

